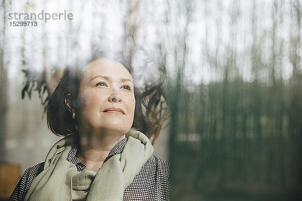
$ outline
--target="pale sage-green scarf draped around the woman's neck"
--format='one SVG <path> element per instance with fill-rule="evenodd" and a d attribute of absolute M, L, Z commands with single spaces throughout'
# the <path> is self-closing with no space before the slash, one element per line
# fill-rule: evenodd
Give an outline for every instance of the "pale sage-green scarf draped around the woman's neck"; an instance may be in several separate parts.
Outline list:
<path fill-rule="evenodd" d="M 44 170 L 34 178 L 25 200 L 122 200 L 124 189 L 154 151 L 141 132 L 131 129 L 126 137 L 122 153 L 112 156 L 98 172 L 78 172 L 66 160 L 76 143 L 75 135 L 59 140 L 47 154 Z"/>

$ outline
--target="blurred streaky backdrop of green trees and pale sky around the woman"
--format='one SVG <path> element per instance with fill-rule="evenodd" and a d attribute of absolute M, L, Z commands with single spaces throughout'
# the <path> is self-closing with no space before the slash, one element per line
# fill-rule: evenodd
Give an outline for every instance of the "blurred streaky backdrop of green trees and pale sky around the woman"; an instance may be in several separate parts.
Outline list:
<path fill-rule="evenodd" d="M 74 16 L 18 30 L 2 18 L 2 113 L 14 73 L 27 73 L 22 96 L 36 89 L 43 103 L 64 66 L 116 47 L 132 58 L 155 136 L 169 128 L 172 200 L 302 199 L 299 0 L 50 4 L 2 2 L 3 16 L 56 7 Z"/>

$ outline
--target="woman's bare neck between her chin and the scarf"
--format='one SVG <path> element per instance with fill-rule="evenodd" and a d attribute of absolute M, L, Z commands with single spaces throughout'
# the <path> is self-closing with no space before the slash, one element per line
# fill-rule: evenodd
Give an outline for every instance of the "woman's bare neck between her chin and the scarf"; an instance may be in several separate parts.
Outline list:
<path fill-rule="evenodd" d="M 98 171 L 103 165 L 109 152 L 116 143 L 125 137 L 125 134 L 97 133 L 80 131 L 80 146 L 77 153 L 79 160 L 85 163 L 87 170 Z"/>

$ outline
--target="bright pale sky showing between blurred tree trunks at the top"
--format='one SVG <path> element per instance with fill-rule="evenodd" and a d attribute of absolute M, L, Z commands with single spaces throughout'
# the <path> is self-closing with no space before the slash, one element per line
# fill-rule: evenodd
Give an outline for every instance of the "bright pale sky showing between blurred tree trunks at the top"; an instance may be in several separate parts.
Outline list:
<path fill-rule="evenodd" d="M 75 0 L 70 5 L 69 0 L 61 1 L 30 1 L 28 7 L 19 1 L 12 1 L 12 6 L 7 8 L 8 13 L 67 13 L 73 14 L 73 20 L 37 20 L 37 27 L 11 27 L 7 23 L 5 58 L 10 62 L 9 77 L 13 78 L 20 73 L 20 58 L 23 41 L 25 42 L 25 56 L 28 60 L 28 68 L 36 71 L 43 69 L 43 59 L 49 66 L 59 63 L 73 65 L 77 59 L 84 59 L 90 55 L 92 42 L 100 47 L 110 45 L 114 48 L 122 46 L 124 32 L 123 20 L 126 8 L 121 1 L 83 1 Z M 171 4 L 174 1 L 171 1 Z M 235 4 L 241 11 L 237 19 L 236 29 L 232 29 L 230 8 L 232 1 L 205 1 L 204 4 L 194 4 L 192 19 L 188 26 L 187 45 L 188 59 L 185 68 L 185 79 L 191 80 L 194 84 L 209 83 L 213 80 L 221 80 L 223 71 L 217 70 L 208 62 L 206 51 L 214 55 L 218 49 L 218 65 L 226 65 L 225 55 L 233 46 L 237 52 L 237 65 L 239 73 L 245 81 L 253 81 L 250 52 L 247 52 L 252 45 L 252 1 L 236 1 Z M 270 30 L 272 26 L 271 11 L 273 0 L 257 1 L 258 32 Z M 195 2 L 196 3 L 196 2 Z M 173 74 L 175 72 L 175 58 L 173 48 L 178 43 L 183 43 L 183 27 L 185 16 L 177 14 L 176 4 L 170 8 L 169 24 L 161 24 L 168 10 L 167 4 L 163 1 L 152 1 L 152 4 L 141 6 L 141 13 L 134 20 L 139 20 L 140 27 L 137 33 L 136 43 L 138 44 L 137 54 L 134 58 L 134 68 L 144 79 L 152 79 L 154 66 L 156 65 L 158 49 L 157 44 L 165 42 L 168 51 L 167 69 Z M 289 1 L 285 1 L 283 9 L 289 11 Z M 221 12 L 217 12 L 221 10 Z M 93 12 L 94 11 L 94 12 Z M 103 16 L 104 18 L 101 18 Z M 284 22 L 278 24 L 278 35 L 285 41 L 285 53 L 288 52 L 289 15 L 284 15 Z M 103 22 L 102 22 L 103 20 Z M 217 22 L 222 22 L 219 27 Z M 72 29 L 70 30 L 70 25 Z M 77 34 L 78 32 L 78 34 Z M 232 34 L 235 34 L 236 41 L 232 41 Z M 263 63 L 270 61 L 270 49 L 272 41 L 270 33 L 264 38 L 261 55 Z M 179 36 L 179 40 L 175 37 Z M 43 37 L 46 37 L 43 42 Z M 174 37 L 174 38 L 173 38 Z M 260 35 L 259 35 L 260 37 Z M 23 39 L 24 38 L 24 39 Z M 43 44 L 44 43 L 44 44 Z M 42 50 L 46 45 L 47 58 L 43 58 Z M 9 47 L 9 48 L 8 48 Z M 207 49 L 206 49 L 207 48 Z M 181 53 L 181 52 L 180 52 Z M 181 55 L 181 54 L 180 54 Z M 288 57 L 280 58 L 282 65 L 279 67 L 279 74 L 283 79 L 291 76 L 292 65 Z M 178 61 L 181 61 L 178 60 Z M 263 72 L 266 74 L 266 72 Z"/>

